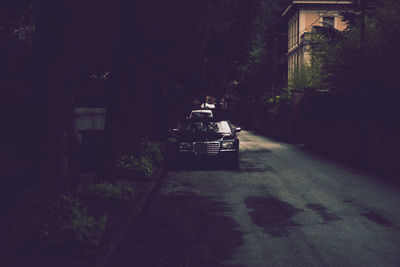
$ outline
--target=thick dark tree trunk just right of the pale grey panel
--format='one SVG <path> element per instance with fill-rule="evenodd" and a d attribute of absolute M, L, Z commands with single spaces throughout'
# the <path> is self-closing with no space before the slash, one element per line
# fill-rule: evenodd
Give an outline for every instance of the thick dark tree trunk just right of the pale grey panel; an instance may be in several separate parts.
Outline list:
<path fill-rule="evenodd" d="M 117 42 L 100 179 L 113 180 L 119 154 L 135 153 L 149 133 L 149 69 L 135 18 L 137 1 L 117 2 Z"/>

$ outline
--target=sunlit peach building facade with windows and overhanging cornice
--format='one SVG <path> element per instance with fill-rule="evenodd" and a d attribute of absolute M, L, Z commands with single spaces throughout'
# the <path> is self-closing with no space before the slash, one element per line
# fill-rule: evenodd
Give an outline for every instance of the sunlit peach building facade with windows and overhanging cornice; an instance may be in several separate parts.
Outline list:
<path fill-rule="evenodd" d="M 352 5 L 352 1 L 293 0 L 282 16 L 288 20 L 288 79 L 303 64 L 310 64 L 307 33 L 314 26 L 333 27 L 339 31 L 346 28 L 341 12 Z"/>

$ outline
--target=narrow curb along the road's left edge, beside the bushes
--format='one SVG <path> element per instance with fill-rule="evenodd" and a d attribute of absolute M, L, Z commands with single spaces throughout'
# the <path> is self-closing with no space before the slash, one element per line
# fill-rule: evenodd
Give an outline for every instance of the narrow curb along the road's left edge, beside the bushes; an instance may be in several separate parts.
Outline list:
<path fill-rule="evenodd" d="M 129 228 L 132 226 L 138 215 L 143 209 L 144 204 L 146 203 L 147 199 L 149 198 L 150 194 L 154 192 L 154 189 L 158 184 L 161 183 L 163 178 L 166 175 L 166 170 L 162 171 L 159 176 L 159 180 L 157 182 L 152 182 L 146 190 L 141 194 L 140 198 L 137 201 L 137 204 L 133 208 L 133 212 L 128 216 L 128 218 L 122 223 L 120 230 L 116 233 L 115 238 L 108 244 L 107 250 L 102 253 L 95 261 L 95 267 L 104 267 L 110 261 L 112 255 L 114 254 L 118 244 L 121 240 L 125 237 L 126 233 L 128 232 Z"/>

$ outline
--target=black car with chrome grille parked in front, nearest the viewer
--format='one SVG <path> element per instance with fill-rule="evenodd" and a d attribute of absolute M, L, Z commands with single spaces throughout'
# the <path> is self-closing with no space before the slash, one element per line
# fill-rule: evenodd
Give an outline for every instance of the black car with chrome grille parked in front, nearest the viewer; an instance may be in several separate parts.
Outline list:
<path fill-rule="evenodd" d="M 232 168 L 239 167 L 240 127 L 233 127 L 227 120 L 188 120 L 176 133 L 175 157 L 187 159 L 220 159 Z"/>

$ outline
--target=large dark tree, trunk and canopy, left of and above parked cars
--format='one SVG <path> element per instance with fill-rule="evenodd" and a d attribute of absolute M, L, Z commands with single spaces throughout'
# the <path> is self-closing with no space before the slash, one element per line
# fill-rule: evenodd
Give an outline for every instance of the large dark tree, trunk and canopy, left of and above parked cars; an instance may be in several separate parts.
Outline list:
<path fill-rule="evenodd" d="M 144 136 L 163 138 L 172 113 L 224 95 L 247 61 L 260 1 L 117 3 L 117 40 L 106 122 L 105 170 Z M 183 116 L 182 116 L 183 117 Z M 163 125 L 162 127 L 160 125 Z"/>

